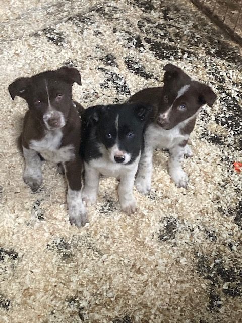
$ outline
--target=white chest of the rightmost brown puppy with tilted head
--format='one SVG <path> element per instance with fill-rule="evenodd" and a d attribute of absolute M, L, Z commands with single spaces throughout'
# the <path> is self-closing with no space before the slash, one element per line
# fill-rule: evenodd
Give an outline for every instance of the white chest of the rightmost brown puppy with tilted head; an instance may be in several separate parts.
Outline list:
<path fill-rule="evenodd" d="M 178 126 L 170 130 L 165 130 L 151 124 L 145 132 L 145 144 L 153 148 L 169 149 L 176 141 L 180 141 L 181 138 L 184 138 L 184 136 L 180 134 Z"/>

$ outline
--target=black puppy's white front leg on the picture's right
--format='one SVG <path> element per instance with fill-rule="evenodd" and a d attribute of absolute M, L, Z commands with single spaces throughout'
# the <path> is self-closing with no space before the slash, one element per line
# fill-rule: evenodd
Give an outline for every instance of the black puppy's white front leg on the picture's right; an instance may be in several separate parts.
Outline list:
<path fill-rule="evenodd" d="M 133 195 L 133 187 L 135 181 L 135 170 L 124 172 L 120 175 L 120 183 L 118 185 L 118 199 L 122 210 L 128 214 L 133 214 L 137 210 L 136 200 Z"/>

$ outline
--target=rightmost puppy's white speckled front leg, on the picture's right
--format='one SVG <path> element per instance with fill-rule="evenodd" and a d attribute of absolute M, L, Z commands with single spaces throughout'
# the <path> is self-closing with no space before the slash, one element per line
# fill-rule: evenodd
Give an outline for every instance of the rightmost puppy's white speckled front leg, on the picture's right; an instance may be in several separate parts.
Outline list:
<path fill-rule="evenodd" d="M 188 185 L 188 175 L 181 168 L 181 162 L 184 158 L 185 146 L 183 142 L 173 146 L 169 157 L 169 174 L 177 187 L 186 187 Z"/>

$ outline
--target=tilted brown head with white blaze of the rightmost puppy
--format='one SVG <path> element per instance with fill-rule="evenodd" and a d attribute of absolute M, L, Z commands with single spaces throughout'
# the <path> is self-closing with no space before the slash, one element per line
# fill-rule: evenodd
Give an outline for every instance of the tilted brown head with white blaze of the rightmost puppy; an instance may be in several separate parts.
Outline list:
<path fill-rule="evenodd" d="M 157 124 L 171 129 L 178 123 L 196 116 L 204 104 L 210 107 L 217 95 L 206 84 L 194 81 L 183 70 L 172 64 L 164 67 L 164 87 Z"/>

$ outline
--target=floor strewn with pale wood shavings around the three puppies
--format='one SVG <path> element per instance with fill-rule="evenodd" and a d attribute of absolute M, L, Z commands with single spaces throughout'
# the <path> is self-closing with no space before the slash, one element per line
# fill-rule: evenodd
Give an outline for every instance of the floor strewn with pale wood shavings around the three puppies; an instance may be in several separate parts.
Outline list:
<path fill-rule="evenodd" d="M 21 4 L 20 4 L 21 3 Z M 160 5 L 161 4 L 161 5 Z M 239 323 L 242 321 L 241 65 L 188 0 L 1 3 L 0 321 L 11 323 Z M 120 211 L 116 181 L 103 178 L 89 227 L 68 222 L 65 181 L 50 164 L 35 194 L 22 180 L 16 137 L 25 102 L 17 77 L 69 64 L 81 71 L 85 107 L 124 101 L 162 83 L 171 62 L 219 98 L 198 118 L 185 159 L 187 190 L 154 156 L 152 192 Z"/>

